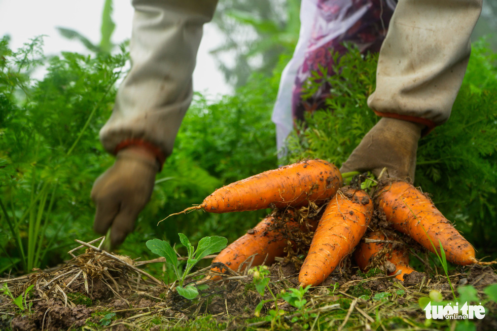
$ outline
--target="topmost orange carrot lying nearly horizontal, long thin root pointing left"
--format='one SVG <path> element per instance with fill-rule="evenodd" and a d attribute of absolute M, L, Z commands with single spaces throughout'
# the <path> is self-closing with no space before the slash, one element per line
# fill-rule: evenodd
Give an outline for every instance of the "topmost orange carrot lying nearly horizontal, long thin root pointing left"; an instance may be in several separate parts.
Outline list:
<path fill-rule="evenodd" d="M 309 201 L 330 199 L 341 186 L 342 176 L 335 165 L 318 159 L 307 160 L 235 181 L 216 190 L 202 204 L 180 213 L 192 209 L 223 213 L 302 207 Z"/>

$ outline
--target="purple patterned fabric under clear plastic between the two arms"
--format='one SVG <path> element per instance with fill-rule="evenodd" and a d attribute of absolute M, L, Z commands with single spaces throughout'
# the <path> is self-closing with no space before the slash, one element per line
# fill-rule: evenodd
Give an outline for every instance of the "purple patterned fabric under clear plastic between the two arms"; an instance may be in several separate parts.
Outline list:
<path fill-rule="evenodd" d="M 306 0 L 303 0 L 306 1 Z M 319 66 L 333 71 L 333 53 L 343 55 L 344 42 L 355 44 L 361 52 L 378 52 L 394 12 L 392 0 L 318 0 L 303 63 L 300 65 L 292 91 L 292 116 L 304 120 L 305 112 L 323 108 L 331 86 L 324 83 L 310 98 L 301 97 L 302 86 Z M 302 22 L 306 24 L 306 22 Z"/>

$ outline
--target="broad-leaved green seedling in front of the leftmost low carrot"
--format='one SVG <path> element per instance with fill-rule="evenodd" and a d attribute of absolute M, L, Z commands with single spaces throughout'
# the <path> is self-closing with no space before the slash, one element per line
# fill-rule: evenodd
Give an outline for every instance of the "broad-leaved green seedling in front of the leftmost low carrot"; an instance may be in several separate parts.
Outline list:
<path fill-rule="evenodd" d="M 180 276 L 177 253 L 167 241 L 152 239 L 147 241 L 146 245 L 154 254 L 162 256 L 166 259 L 168 264 L 172 265 L 179 283 L 179 285 L 176 286 L 176 291 L 184 298 L 193 300 L 198 296 L 198 290 L 193 285 L 183 287 L 187 275 L 202 258 L 209 254 L 217 253 L 225 248 L 228 239 L 219 236 L 204 237 L 200 239 L 197 250 L 195 250 L 183 233 L 179 233 L 178 235 L 180 236 L 181 243 L 188 250 L 188 260 L 183 276 Z"/>

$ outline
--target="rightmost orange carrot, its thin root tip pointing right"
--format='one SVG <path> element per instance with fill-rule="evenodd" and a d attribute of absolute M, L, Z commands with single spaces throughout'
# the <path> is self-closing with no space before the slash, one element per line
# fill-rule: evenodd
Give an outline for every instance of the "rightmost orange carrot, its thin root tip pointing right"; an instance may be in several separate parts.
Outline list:
<path fill-rule="evenodd" d="M 440 252 L 439 240 L 447 261 L 458 265 L 491 264 L 479 262 L 473 246 L 450 224 L 433 202 L 411 184 L 393 181 L 380 186 L 375 202 L 386 220 L 424 248 Z"/>

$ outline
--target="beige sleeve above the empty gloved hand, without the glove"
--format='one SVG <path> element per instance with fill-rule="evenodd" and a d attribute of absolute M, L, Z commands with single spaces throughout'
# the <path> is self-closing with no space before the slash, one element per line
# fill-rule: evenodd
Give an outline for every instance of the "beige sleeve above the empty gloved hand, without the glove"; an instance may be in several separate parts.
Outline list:
<path fill-rule="evenodd" d="M 100 130 L 113 153 L 125 139 L 144 139 L 166 155 L 192 99 L 192 73 L 217 0 L 133 0 L 131 70 Z"/>

